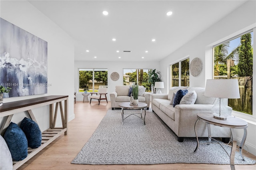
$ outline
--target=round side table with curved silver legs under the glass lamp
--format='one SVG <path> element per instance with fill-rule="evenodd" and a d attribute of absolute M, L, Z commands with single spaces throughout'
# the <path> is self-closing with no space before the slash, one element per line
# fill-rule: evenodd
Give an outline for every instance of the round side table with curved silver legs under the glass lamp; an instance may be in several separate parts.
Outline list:
<path fill-rule="evenodd" d="M 215 119 L 213 117 L 212 114 L 207 114 L 207 113 L 198 113 L 197 114 L 197 121 L 195 123 L 195 133 L 196 133 L 196 140 L 197 140 L 197 146 L 196 149 L 194 150 L 194 152 L 196 152 L 196 150 L 199 148 L 199 141 L 198 141 L 198 136 L 197 136 L 197 132 L 196 132 L 196 125 L 198 123 L 198 121 L 204 121 L 205 123 L 207 123 L 207 128 L 208 128 L 208 142 L 210 142 L 210 139 L 215 140 L 214 138 L 212 138 L 211 136 L 211 128 L 210 125 L 215 125 L 215 126 L 219 126 L 219 127 L 227 127 L 230 128 L 231 131 L 231 139 L 232 139 L 232 148 L 231 148 L 231 153 L 230 153 L 230 167 L 232 170 L 235 170 L 235 164 L 234 164 L 234 158 L 235 158 L 235 153 L 236 153 L 236 132 L 235 129 L 244 129 L 244 136 L 242 138 L 239 150 L 240 150 L 240 154 L 242 156 L 242 159 L 244 160 L 244 156 L 243 156 L 243 147 L 244 147 L 244 142 L 246 140 L 246 136 L 247 136 L 247 127 L 248 127 L 248 123 L 240 118 L 237 117 L 228 117 L 226 120 L 220 120 L 220 119 Z M 215 140 L 216 142 L 218 142 L 218 140 Z M 209 144 L 209 143 L 204 143 L 204 144 Z M 220 146 L 222 146 L 222 144 L 220 142 L 218 142 L 218 144 L 220 144 Z M 222 148 L 224 149 L 224 147 L 222 146 Z M 224 149 L 225 150 L 225 149 Z M 226 150 L 225 150 L 226 151 Z M 226 153 L 228 154 L 228 152 L 226 151 Z"/>

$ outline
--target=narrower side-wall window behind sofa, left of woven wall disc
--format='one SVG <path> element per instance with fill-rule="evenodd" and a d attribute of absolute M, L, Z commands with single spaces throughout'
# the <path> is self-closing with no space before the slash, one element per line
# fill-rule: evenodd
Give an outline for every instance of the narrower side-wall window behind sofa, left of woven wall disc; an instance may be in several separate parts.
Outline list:
<path fill-rule="evenodd" d="M 189 86 L 189 58 L 170 65 L 170 85 Z"/>

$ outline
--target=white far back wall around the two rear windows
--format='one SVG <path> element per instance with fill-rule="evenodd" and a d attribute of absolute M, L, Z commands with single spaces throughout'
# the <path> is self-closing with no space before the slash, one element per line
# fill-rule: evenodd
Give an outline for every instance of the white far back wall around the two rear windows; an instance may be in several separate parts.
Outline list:
<path fill-rule="evenodd" d="M 109 94 L 115 91 L 116 85 L 123 85 L 123 69 L 156 69 L 159 70 L 159 62 L 109 62 L 109 61 L 75 61 L 74 67 L 74 89 L 76 90 L 77 101 L 83 101 L 83 96 L 78 92 L 78 79 L 79 73 L 78 69 L 80 68 L 99 68 L 99 69 L 108 69 L 108 95 L 107 98 L 110 100 Z M 113 81 L 110 78 L 111 73 L 117 72 L 119 74 L 119 79 Z"/>

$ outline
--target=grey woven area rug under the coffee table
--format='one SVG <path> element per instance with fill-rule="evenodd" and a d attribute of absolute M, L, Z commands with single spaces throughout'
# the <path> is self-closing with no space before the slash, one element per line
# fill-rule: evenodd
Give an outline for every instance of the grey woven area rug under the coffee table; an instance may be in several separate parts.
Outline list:
<path fill-rule="evenodd" d="M 137 112 L 134 110 L 125 110 Z M 144 112 L 144 111 L 143 111 Z M 143 113 L 144 115 L 144 113 Z M 125 115 L 126 116 L 126 115 Z M 142 119 L 131 115 L 122 125 L 121 110 L 108 110 L 91 138 L 78 153 L 72 164 L 169 164 L 202 163 L 230 164 L 230 158 L 219 144 L 200 144 L 196 153 L 196 138 L 177 136 L 152 110 L 146 111 L 146 125 Z M 199 138 L 207 142 L 208 138 Z M 231 147 L 225 146 L 230 151 Z M 243 161 L 236 152 L 235 164 L 255 164 Z"/>

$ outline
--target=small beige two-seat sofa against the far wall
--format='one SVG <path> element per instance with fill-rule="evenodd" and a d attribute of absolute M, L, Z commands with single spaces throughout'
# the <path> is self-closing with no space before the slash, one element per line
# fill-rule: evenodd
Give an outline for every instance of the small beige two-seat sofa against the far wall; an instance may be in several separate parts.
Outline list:
<path fill-rule="evenodd" d="M 118 104 L 122 102 L 130 102 L 130 96 L 129 96 L 129 89 L 130 86 L 128 85 L 119 85 L 116 86 L 116 89 L 114 92 L 110 93 L 110 101 L 111 101 L 111 107 L 112 110 L 114 108 L 119 108 Z M 145 92 L 146 88 L 143 86 L 139 86 L 139 102 L 146 103 L 147 109 L 150 106 L 150 95 L 151 93 Z"/>

